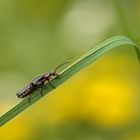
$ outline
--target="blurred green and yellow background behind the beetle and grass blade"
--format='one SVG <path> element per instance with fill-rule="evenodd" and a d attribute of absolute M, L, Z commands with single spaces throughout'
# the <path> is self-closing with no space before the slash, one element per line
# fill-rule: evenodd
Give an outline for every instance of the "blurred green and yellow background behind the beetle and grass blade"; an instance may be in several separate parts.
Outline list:
<path fill-rule="evenodd" d="M 139 0 L 1 0 L 0 113 L 36 75 L 115 35 L 140 43 Z M 140 66 L 103 55 L 0 128 L 0 140 L 140 140 Z"/>

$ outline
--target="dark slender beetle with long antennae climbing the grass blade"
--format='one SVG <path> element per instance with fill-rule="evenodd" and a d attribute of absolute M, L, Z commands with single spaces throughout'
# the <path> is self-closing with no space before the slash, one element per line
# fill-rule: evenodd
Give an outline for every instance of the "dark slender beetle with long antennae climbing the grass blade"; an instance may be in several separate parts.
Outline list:
<path fill-rule="evenodd" d="M 49 85 L 52 88 L 55 88 L 55 86 L 53 86 L 50 82 L 52 77 L 57 77 L 59 76 L 59 74 L 57 73 L 57 69 L 60 68 L 61 66 L 65 65 L 69 63 L 65 62 L 62 63 L 60 65 L 58 65 L 54 70 L 50 70 L 48 72 L 45 72 L 44 74 L 40 74 L 38 76 L 36 76 L 35 78 L 33 78 L 31 81 L 29 81 L 24 87 L 22 87 L 17 93 L 17 97 L 18 98 L 24 98 L 24 97 L 31 97 L 31 94 L 33 93 L 33 91 L 35 91 L 37 88 L 41 88 L 41 96 L 43 96 L 42 93 L 42 87 L 45 84 L 46 81 L 48 81 Z"/>

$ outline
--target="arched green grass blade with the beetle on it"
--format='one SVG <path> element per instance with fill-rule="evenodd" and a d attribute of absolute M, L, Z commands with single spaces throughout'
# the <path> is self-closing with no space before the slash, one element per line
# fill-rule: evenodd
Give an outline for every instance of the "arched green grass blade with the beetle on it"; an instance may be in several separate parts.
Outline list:
<path fill-rule="evenodd" d="M 76 62 L 74 62 L 72 65 L 70 65 L 68 68 L 63 70 L 60 73 L 59 77 L 54 78 L 51 80 L 51 83 L 54 86 L 59 86 L 62 84 L 65 80 L 70 78 L 72 75 L 80 71 L 82 68 L 88 66 L 92 62 L 94 62 L 97 58 L 99 58 L 101 55 L 103 55 L 105 52 L 108 52 L 109 50 L 120 46 L 120 45 L 130 45 L 134 46 L 137 50 L 138 59 L 140 61 L 140 48 L 135 43 L 133 43 L 129 38 L 125 36 L 116 36 L 112 37 L 103 43 L 97 45 L 93 49 L 91 49 L 89 52 L 84 54 L 81 58 L 79 58 Z M 48 94 L 51 90 L 53 90 L 48 83 L 46 83 L 43 87 L 43 94 Z M 20 103 L 12 107 L 9 111 L 4 113 L 0 116 L 0 126 L 7 123 L 9 120 L 14 118 L 16 115 L 24 111 L 26 108 L 30 107 L 33 103 L 41 99 L 40 96 L 40 90 L 36 90 L 33 92 L 30 102 L 28 98 L 23 99 Z"/>

